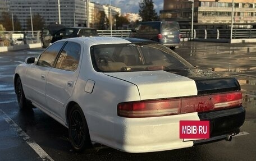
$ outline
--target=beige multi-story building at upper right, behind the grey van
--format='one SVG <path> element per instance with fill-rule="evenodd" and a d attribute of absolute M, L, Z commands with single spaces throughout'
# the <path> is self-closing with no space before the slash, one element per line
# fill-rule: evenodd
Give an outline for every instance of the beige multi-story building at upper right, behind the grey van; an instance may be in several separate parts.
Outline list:
<path fill-rule="evenodd" d="M 195 27 L 230 27 L 232 0 L 164 0 L 160 17 L 179 21 L 190 28 L 191 4 L 194 3 Z M 234 0 L 234 27 L 250 28 L 256 24 L 256 0 Z"/>

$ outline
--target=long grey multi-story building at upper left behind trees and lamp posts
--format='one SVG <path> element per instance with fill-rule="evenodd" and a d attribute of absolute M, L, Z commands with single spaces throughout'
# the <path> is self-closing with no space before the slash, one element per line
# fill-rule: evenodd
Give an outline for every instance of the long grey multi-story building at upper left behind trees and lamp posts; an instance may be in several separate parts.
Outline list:
<path fill-rule="evenodd" d="M 0 0 L 0 10 L 4 10 L 17 16 L 20 21 L 22 29 L 28 30 L 30 26 L 27 26 L 27 21 L 30 19 L 31 14 L 39 14 L 44 18 L 45 26 L 58 23 L 65 26 L 87 26 L 87 7 L 86 2 L 88 0 L 60 0 L 60 15 L 61 23 L 58 17 L 58 1 L 52 0 Z M 2 5 L 3 3 L 3 5 Z M 6 6 L 6 7 L 5 7 Z M 104 11 L 106 17 L 109 19 L 109 13 L 115 16 L 117 13 L 121 13 L 121 8 L 115 6 L 109 6 L 89 3 L 89 24 L 94 24 L 95 16 L 98 11 Z M 92 27 L 92 26 L 91 26 Z"/>

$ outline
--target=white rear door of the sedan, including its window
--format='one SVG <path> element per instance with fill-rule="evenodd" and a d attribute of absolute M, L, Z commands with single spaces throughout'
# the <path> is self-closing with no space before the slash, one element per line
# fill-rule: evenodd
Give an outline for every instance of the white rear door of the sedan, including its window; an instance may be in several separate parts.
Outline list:
<path fill-rule="evenodd" d="M 72 96 L 79 75 L 78 65 L 82 46 L 83 44 L 67 42 L 48 73 L 47 108 L 62 121 L 65 120 L 65 104 Z"/>

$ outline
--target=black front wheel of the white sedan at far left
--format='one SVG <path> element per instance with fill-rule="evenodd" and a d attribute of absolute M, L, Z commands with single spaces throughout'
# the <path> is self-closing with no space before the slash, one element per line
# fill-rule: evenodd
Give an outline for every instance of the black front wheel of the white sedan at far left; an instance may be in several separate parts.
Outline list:
<path fill-rule="evenodd" d="M 18 77 L 16 80 L 16 95 L 20 109 L 28 108 L 28 103 L 22 88 L 20 77 Z"/>

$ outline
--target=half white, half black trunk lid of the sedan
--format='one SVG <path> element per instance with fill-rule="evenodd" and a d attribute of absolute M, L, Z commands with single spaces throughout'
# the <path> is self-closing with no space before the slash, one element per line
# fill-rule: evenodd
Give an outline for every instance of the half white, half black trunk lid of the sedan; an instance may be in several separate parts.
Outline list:
<path fill-rule="evenodd" d="M 105 73 L 138 86 L 141 100 L 226 93 L 240 90 L 235 78 L 210 70 L 188 68 L 168 71 Z"/>

